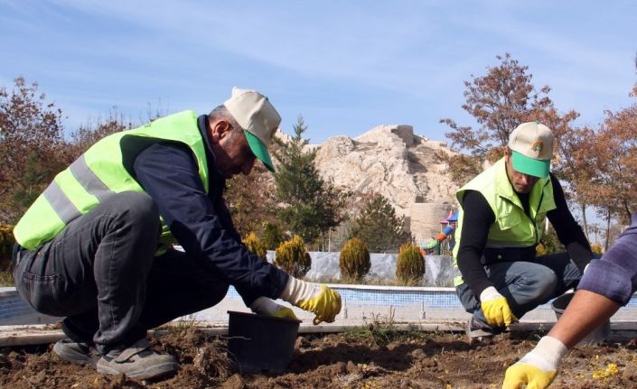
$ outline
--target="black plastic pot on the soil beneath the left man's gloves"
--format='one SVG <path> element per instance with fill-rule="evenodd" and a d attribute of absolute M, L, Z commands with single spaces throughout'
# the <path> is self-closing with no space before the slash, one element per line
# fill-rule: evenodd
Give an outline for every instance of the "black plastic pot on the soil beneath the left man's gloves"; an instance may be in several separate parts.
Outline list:
<path fill-rule="evenodd" d="M 228 353 L 243 373 L 283 373 L 292 362 L 300 320 L 229 310 Z"/>

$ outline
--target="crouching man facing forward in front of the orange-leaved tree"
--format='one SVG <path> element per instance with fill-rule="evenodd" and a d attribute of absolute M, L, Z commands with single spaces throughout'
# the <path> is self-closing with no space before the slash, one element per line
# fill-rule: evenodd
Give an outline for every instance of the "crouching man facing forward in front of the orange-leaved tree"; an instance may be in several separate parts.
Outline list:
<path fill-rule="evenodd" d="M 471 339 L 491 338 L 522 315 L 573 288 L 593 256 L 564 191 L 549 172 L 553 133 L 519 125 L 504 157 L 457 191 L 454 286 Z M 536 256 L 546 219 L 566 253 Z"/>

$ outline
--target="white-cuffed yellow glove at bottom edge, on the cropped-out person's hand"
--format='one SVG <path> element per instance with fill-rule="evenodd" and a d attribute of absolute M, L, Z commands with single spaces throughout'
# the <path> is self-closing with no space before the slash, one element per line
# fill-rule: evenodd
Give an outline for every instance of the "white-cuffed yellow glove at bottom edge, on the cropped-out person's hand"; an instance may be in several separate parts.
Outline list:
<path fill-rule="evenodd" d="M 557 375 L 557 367 L 568 348 L 556 338 L 539 339 L 538 346 L 510 366 L 504 375 L 502 389 L 546 389 Z"/>

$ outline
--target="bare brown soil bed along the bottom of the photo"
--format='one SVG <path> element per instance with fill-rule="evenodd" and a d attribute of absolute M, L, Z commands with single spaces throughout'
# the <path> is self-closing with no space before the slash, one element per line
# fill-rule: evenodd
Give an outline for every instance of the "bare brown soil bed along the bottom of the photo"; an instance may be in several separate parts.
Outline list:
<path fill-rule="evenodd" d="M 0 388 L 499 388 L 504 370 L 538 340 L 538 333 L 499 335 L 470 345 L 464 335 L 367 328 L 342 334 L 302 335 L 283 375 L 241 374 L 227 357 L 227 339 L 197 329 L 151 338 L 173 354 L 173 376 L 140 382 L 100 375 L 52 353 L 52 345 L 0 350 Z M 609 364 L 615 364 L 617 370 Z M 551 388 L 637 387 L 637 342 L 571 351 Z"/>

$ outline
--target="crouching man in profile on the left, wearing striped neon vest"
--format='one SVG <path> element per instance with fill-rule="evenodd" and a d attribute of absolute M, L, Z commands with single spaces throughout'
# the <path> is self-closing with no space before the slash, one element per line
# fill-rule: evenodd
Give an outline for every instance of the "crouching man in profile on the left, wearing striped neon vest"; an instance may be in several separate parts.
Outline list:
<path fill-rule="evenodd" d="M 13 262 L 23 299 L 65 317 L 58 356 L 112 375 L 170 374 L 175 358 L 153 351 L 146 330 L 219 303 L 230 285 L 257 313 L 295 319 L 280 298 L 314 324 L 334 320 L 338 292 L 250 254 L 222 198 L 255 159 L 274 171 L 280 122 L 267 97 L 234 88 L 210 115 L 109 135 L 55 177 L 14 228 Z"/>

